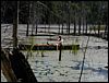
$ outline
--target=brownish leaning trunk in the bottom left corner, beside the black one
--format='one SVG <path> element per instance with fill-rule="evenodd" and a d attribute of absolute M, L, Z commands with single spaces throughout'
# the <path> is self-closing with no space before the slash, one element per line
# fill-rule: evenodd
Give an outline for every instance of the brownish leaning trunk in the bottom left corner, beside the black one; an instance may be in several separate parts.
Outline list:
<path fill-rule="evenodd" d="M 12 70 L 9 55 L 1 50 L 1 70 L 8 82 L 17 82 L 17 79 Z"/>

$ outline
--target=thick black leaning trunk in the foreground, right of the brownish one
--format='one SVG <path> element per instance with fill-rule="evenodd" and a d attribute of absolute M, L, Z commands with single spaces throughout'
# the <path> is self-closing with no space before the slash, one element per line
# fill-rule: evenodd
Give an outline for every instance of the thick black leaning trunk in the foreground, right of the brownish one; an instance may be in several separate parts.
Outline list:
<path fill-rule="evenodd" d="M 9 56 L 11 61 L 12 69 L 16 79 L 24 83 L 36 83 L 37 80 L 31 69 L 29 63 L 25 59 L 24 55 L 20 50 L 15 49 L 12 51 L 12 55 Z"/>

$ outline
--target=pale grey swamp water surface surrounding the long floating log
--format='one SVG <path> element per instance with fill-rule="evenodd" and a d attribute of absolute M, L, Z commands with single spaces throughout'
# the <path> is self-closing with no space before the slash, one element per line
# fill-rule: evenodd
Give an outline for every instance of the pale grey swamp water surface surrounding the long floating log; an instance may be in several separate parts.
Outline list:
<path fill-rule="evenodd" d="M 5 28 L 1 28 L 1 45 L 11 45 L 8 42 L 12 39 L 12 26 L 7 28 L 7 33 L 3 33 Z M 26 25 L 19 27 L 19 39 L 25 38 Z M 56 31 L 58 32 L 58 31 Z M 31 33 L 31 32 L 29 32 Z M 7 37 L 7 42 L 4 39 Z M 52 36 L 57 38 L 56 36 Z M 34 37 L 36 38 L 36 37 Z M 44 36 L 39 37 L 44 38 Z M 47 36 L 45 36 L 47 38 Z M 62 50 L 61 61 L 59 61 L 59 51 L 33 51 L 33 56 L 29 57 L 28 62 L 33 69 L 33 72 L 38 82 L 78 82 L 80 73 L 82 69 L 82 61 L 88 39 L 87 36 L 62 36 L 63 45 L 72 44 L 77 38 L 80 44 L 80 50 L 77 54 L 73 54 L 72 50 Z M 45 44 L 46 40 L 36 40 L 35 43 Z M 49 42 L 52 43 L 52 42 Z M 100 46 L 100 48 L 98 48 Z M 26 56 L 26 51 L 22 51 Z M 82 74 L 82 82 L 108 82 L 108 69 L 104 68 L 108 63 L 108 42 L 105 39 L 89 37 L 88 47 L 85 56 L 84 70 Z M 3 74 L 1 73 L 1 82 L 5 82 Z"/>

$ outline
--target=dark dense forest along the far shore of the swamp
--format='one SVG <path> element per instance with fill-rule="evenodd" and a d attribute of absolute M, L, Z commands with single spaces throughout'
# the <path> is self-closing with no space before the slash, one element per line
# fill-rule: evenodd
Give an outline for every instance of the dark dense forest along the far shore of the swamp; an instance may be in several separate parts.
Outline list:
<path fill-rule="evenodd" d="M 19 23 L 106 24 L 108 1 L 20 1 Z M 1 23 L 13 23 L 15 1 L 1 1 Z"/>

